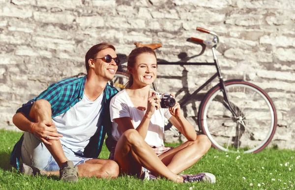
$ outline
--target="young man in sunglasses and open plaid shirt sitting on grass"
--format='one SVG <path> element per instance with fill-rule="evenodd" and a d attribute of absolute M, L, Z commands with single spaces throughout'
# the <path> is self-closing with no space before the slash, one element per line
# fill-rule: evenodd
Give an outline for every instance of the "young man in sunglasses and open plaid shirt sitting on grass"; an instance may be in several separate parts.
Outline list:
<path fill-rule="evenodd" d="M 112 124 L 109 104 L 118 91 L 107 84 L 120 63 L 115 47 L 100 43 L 85 56 L 87 75 L 51 84 L 24 104 L 13 123 L 24 135 L 16 143 L 10 163 L 21 172 L 59 174 L 76 182 L 79 176 L 116 178 L 118 164 L 97 159 Z M 58 171 L 59 170 L 59 171 Z"/>

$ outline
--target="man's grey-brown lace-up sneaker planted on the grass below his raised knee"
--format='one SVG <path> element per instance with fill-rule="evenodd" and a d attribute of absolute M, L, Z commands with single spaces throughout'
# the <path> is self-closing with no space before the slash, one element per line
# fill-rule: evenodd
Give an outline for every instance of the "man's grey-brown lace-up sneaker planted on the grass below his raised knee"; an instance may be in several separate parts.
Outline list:
<path fill-rule="evenodd" d="M 63 163 L 62 167 L 59 169 L 59 179 L 70 183 L 77 182 L 78 167 L 75 167 L 72 161 Z"/>

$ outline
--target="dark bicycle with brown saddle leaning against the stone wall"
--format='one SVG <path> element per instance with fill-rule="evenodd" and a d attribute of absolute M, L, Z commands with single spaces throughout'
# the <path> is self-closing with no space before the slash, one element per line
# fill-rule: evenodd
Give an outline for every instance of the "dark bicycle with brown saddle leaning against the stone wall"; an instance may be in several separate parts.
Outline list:
<path fill-rule="evenodd" d="M 212 146 L 223 151 L 244 153 L 258 153 L 262 151 L 274 136 L 277 124 L 277 115 L 274 104 L 267 93 L 255 84 L 247 81 L 232 79 L 224 81 L 216 56 L 219 37 L 215 32 L 197 27 L 198 31 L 213 35 L 211 41 L 190 38 L 190 42 L 204 44 L 210 47 L 214 62 L 168 62 L 158 60 L 158 65 L 212 65 L 216 73 L 203 85 L 187 97 L 179 100 L 180 107 L 193 99 L 208 83 L 218 77 L 219 83 L 209 89 L 199 106 L 197 123 L 199 130 L 207 135 Z M 139 44 L 152 49 L 161 47 L 161 44 Z M 121 59 L 124 55 L 118 54 Z M 192 57 L 190 57 L 192 58 Z M 124 60 L 126 61 L 126 60 Z M 122 62 L 124 62 L 122 61 Z M 119 90 L 124 88 L 128 81 L 126 65 L 121 65 L 111 81 Z M 153 88 L 157 91 L 155 84 Z M 165 130 L 172 127 L 171 123 Z"/>

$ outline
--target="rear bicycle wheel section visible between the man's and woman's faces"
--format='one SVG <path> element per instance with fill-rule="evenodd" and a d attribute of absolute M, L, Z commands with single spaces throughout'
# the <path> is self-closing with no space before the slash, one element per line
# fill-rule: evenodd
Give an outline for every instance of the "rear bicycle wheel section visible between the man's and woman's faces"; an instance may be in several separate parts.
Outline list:
<path fill-rule="evenodd" d="M 119 68 L 114 76 L 114 78 L 110 81 L 110 85 L 117 88 L 118 91 L 121 91 L 125 88 L 125 85 L 129 81 L 129 74 L 126 72 L 126 68 Z"/>

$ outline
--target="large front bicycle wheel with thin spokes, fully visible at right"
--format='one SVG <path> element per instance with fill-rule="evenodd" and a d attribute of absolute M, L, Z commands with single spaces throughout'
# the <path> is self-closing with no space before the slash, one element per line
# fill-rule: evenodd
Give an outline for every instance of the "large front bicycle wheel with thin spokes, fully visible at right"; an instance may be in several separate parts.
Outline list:
<path fill-rule="evenodd" d="M 241 80 L 225 81 L 229 102 L 217 84 L 202 100 L 198 124 L 214 148 L 223 151 L 257 153 L 274 136 L 277 124 L 275 107 L 258 86 Z"/>

